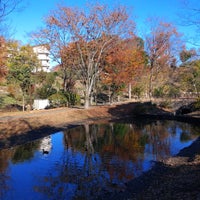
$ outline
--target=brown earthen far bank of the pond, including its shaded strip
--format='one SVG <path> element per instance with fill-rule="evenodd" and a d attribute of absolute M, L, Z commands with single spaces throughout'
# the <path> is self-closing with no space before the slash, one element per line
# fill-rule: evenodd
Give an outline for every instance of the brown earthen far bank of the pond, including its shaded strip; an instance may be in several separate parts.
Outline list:
<path fill-rule="evenodd" d="M 0 113 L 0 148 L 23 144 L 72 126 L 129 117 L 135 103 Z"/>

